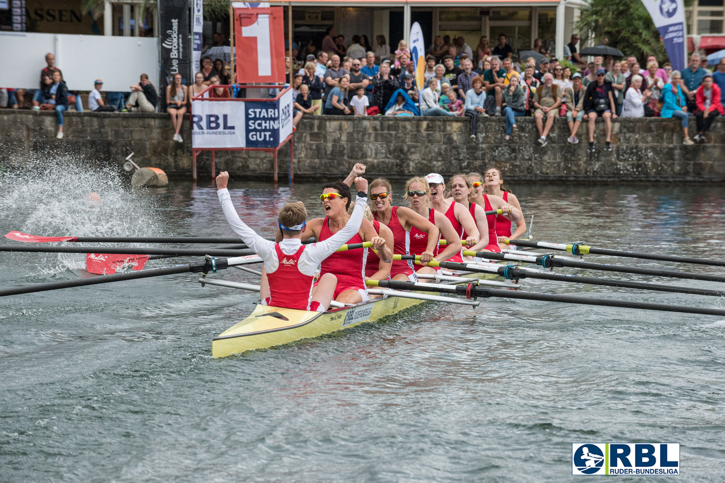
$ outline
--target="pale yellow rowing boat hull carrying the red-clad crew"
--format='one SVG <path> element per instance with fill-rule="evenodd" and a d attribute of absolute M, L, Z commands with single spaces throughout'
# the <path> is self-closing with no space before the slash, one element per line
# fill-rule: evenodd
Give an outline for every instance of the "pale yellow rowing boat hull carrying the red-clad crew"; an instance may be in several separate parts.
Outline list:
<path fill-rule="evenodd" d="M 496 278 L 493 274 L 471 274 L 470 278 Z M 428 292 L 420 292 L 428 293 Z M 375 322 L 387 315 L 426 302 L 401 297 L 378 297 L 352 307 L 327 312 L 310 312 L 283 307 L 257 305 L 244 321 L 223 331 L 212 339 L 212 357 L 225 358 L 248 350 L 268 349 L 299 339 L 311 339 L 323 334 Z"/>

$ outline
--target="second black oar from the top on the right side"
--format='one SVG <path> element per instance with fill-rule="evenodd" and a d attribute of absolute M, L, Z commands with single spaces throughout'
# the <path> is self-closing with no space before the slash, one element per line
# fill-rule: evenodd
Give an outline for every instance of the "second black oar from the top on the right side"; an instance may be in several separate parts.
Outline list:
<path fill-rule="evenodd" d="M 658 277 L 687 278 L 689 280 L 704 280 L 725 282 L 725 277 L 716 275 L 701 275 L 700 273 L 679 272 L 671 270 L 658 270 L 655 268 L 629 267 L 627 265 L 607 265 L 604 263 L 589 263 L 572 260 L 571 257 L 559 257 L 557 255 L 542 255 L 534 257 L 530 255 L 513 255 L 510 253 L 494 252 L 471 252 L 463 250 L 463 255 L 471 257 L 488 258 L 490 260 L 513 260 L 523 263 L 536 263 L 544 268 L 571 267 L 588 268 L 589 270 L 601 270 L 607 272 L 638 273 L 639 275 L 653 275 Z"/>

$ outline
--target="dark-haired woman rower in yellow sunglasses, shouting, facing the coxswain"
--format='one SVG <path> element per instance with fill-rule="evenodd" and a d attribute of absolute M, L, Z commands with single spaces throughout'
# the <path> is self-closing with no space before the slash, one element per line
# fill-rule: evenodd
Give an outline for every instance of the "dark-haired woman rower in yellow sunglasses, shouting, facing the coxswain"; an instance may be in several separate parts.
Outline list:
<path fill-rule="evenodd" d="M 357 186 L 357 178 L 355 179 L 355 186 Z M 367 189 L 367 187 L 366 184 L 365 188 Z M 352 202 L 351 198 L 349 186 L 345 183 L 335 181 L 323 185 L 320 200 L 322 201 L 325 218 L 310 220 L 302 231 L 302 239 L 306 240 L 314 236 L 315 241 L 324 241 L 342 230 L 350 218 L 347 215 L 347 208 Z M 367 199 L 363 202 L 358 198 L 355 201 L 356 210 L 358 202 L 360 202 L 360 205 L 365 205 Z M 364 209 L 364 206 L 360 206 L 361 212 Z M 279 232 L 277 236 L 280 236 Z M 365 220 L 365 218 L 363 218 L 357 233 L 353 232 L 352 236 L 348 238 L 345 241 L 347 244 L 371 241 L 373 249 L 378 251 L 385 246 L 385 239 L 378 236 L 373 224 Z M 334 252 L 325 260 L 322 260 L 322 263 L 320 263 L 320 276 L 332 273 L 337 278 L 334 293 L 336 301 L 357 304 L 370 300 L 368 290 L 365 287 L 365 261 L 367 255 L 367 248 L 357 248 L 344 252 Z"/>

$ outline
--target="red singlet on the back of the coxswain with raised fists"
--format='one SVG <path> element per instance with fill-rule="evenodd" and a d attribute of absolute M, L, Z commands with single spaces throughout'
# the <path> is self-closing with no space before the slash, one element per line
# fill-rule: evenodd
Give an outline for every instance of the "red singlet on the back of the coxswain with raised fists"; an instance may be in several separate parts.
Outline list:
<path fill-rule="evenodd" d="M 277 251 L 279 267 L 276 271 L 267 274 L 270 297 L 267 297 L 265 302 L 273 307 L 310 310 L 314 277 L 301 273 L 297 268 L 299 256 L 305 251 L 305 245 L 299 247 L 294 255 L 284 255 L 279 244 L 276 244 L 274 249 Z M 317 307 L 312 310 L 317 310 Z"/>

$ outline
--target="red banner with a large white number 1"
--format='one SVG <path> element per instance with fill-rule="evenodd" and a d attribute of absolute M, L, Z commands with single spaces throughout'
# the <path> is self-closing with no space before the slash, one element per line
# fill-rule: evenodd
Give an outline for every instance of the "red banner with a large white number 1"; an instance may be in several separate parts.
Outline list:
<path fill-rule="evenodd" d="M 234 9 L 234 45 L 237 82 L 285 81 L 282 7 Z"/>

